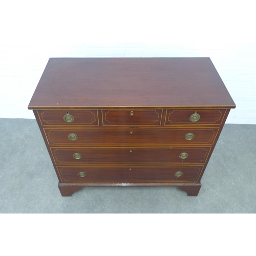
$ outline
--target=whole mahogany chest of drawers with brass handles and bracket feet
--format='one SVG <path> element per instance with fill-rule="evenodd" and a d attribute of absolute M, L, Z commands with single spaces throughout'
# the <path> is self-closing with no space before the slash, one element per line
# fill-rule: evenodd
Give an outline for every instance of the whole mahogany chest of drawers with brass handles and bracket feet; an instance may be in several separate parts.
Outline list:
<path fill-rule="evenodd" d="M 197 196 L 235 107 L 209 58 L 50 58 L 28 106 L 62 196 L 86 186 Z"/>

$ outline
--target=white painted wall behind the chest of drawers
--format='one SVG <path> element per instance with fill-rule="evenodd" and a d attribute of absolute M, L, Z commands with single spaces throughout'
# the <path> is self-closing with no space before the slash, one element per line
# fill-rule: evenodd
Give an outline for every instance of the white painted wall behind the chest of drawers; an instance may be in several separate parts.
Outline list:
<path fill-rule="evenodd" d="M 166 2 L 5 3 L 0 118 L 34 118 L 27 105 L 50 57 L 210 57 L 237 104 L 227 123 L 256 124 L 253 2 Z"/>

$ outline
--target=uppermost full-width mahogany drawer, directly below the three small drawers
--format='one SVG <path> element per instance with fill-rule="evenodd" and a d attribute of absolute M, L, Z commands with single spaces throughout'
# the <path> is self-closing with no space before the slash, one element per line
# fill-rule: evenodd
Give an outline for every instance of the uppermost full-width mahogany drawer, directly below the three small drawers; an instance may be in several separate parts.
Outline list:
<path fill-rule="evenodd" d="M 49 145 L 192 145 L 212 144 L 219 128 L 47 129 Z M 185 139 L 185 137 L 187 139 Z M 69 139 L 70 138 L 70 139 Z M 72 140 L 73 139 L 73 140 Z"/>

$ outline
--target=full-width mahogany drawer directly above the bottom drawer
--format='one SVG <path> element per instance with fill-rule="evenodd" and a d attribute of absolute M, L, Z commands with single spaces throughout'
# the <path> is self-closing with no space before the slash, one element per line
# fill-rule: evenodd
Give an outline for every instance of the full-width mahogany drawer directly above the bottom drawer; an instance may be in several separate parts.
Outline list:
<path fill-rule="evenodd" d="M 51 148 L 55 164 L 205 163 L 210 147 Z"/>

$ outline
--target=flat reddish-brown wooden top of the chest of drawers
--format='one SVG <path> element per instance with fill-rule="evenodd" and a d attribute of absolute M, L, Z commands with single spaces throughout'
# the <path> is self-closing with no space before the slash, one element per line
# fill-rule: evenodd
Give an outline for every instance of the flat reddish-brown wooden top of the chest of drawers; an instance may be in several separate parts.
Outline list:
<path fill-rule="evenodd" d="M 50 58 L 29 109 L 235 108 L 210 58 Z"/>

